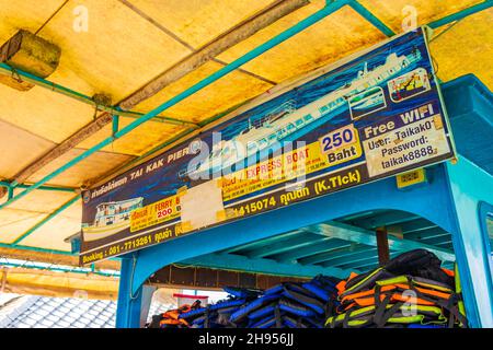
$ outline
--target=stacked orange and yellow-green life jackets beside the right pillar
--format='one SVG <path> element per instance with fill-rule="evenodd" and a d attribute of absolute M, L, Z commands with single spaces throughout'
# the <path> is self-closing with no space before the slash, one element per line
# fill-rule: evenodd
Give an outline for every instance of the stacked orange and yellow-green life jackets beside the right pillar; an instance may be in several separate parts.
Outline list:
<path fill-rule="evenodd" d="M 431 252 L 404 253 L 337 284 L 337 314 L 325 327 L 467 327 L 456 271 Z"/>

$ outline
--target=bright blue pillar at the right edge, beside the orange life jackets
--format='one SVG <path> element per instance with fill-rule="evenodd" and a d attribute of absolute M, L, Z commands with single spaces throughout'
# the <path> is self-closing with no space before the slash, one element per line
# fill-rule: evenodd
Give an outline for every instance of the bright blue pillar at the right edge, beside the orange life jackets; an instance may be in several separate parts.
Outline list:
<path fill-rule="evenodd" d="M 456 217 L 452 232 L 462 294 L 470 326 L 493 327 L 491 252 L 482 230 L 480 203 L 493 203 L 493 177 L 459 155 L 457 164 L 446 165 L 451 208 Z"/>

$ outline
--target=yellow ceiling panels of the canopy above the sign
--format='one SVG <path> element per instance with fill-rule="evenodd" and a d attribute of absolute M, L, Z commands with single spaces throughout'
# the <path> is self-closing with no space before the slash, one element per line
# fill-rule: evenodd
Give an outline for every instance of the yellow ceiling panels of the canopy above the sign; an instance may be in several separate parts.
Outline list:
<path fill-rule="evenodd" d="M 0 0 L 0 45 L 19 30 L 28 30 L 61 49 L 50 81 L 92 96 L 105 93 L 117 104 L 222 33 L 270 7 L 274 0 Z M 478 0 L 360 0 L 393 32 L 402 32 L 409 11 L 427 24 L 477 4 Z M 88 32 L 76 32 L 78 7 L 88 11 Z M 268 40 L 324 5 L 310 1 L 253 36 L 230 47 L 216 60 L 169 84 L 134 110 L 146 113 L 225 65 Z M 481 11 L 435 31 L 431 51 L 443 81 L 474 73 L 493 88 L 493 10 Z M 276 84 L 367 48 L 386 36 L 353 9 L 345 7 L 307 31 L 252 60 L 228 77 L 163 113 L 193 122 L 204 121 Z M 93 120 L 94 107 L 41 86 L 20 92 L 0 84 L 0 179 L 19 172 Z M 134 118 L 122 117 L 121 127 Z M 51 186 L 78 188 L 100 178 L 146 151 L 172 139 L 184 126 L 148 121 L 124 138 L 49 180 Z M 111 136 L 111 126 L 38 170 L 39 180 L 84 150 Z M 39 220 L 76 196 L 35 190 L 0 210 L 0 243 L 12 243 Z M 3 202 L 5 198 L 0 199 Z M 80 229 L 76 202 L 22 244 L 69 250 L 64 238 Z"/>

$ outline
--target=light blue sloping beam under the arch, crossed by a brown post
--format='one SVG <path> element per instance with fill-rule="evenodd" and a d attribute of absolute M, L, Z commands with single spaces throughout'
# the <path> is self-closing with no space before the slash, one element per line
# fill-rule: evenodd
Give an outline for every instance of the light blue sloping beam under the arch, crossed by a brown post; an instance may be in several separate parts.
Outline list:
<path fill-rule="evenodd" d="M 329 237 L 346 240 L 359 244 L 366 244 L 369 246 L 377 246 L 377 237 L 375 236 L 374 232 L 335 221 L 331 221 L 330 223 L 326 224 L 308 226 L 302 230 L 306 230 L 307 232 L 318 233 Z M 414 241 L 399 240 L 393 237 L 388 238 L 388 242 L 390 250 L 412 250 L 424 248 L 434 253 L 442 260 L 445 261 L 456 260 L 454 252 L 448 249 L 438 248 L 432 245 L 422 244 Z"/>

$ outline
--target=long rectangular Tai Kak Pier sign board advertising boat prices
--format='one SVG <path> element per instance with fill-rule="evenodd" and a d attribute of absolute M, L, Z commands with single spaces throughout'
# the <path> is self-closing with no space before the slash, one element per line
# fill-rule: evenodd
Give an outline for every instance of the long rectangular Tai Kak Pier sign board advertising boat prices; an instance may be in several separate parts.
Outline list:
<path fill-rule="evenodd" d="M 454 156 L 424 28 L 264 101 L 84 191 L 81 264 Z"/>

